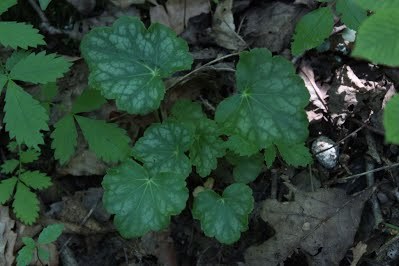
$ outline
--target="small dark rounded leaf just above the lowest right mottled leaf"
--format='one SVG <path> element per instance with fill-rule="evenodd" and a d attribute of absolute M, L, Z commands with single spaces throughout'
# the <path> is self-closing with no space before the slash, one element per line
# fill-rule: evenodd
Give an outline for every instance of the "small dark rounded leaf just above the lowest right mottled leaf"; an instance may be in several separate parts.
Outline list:
<path fill-rule="evenodd" d="M 263 166 L 263 156 L 260 153 L 249 157 L 240 156 L 233 168 L 234 180 L 248 184 L 259 176 Z"/>

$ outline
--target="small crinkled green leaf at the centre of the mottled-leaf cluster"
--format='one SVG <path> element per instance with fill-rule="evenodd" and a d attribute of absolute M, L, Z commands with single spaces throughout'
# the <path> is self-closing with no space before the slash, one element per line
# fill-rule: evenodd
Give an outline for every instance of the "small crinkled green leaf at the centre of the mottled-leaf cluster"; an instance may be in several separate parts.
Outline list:
<path fill-rule="evenodd" d="M 194 142 L 190 148 L 190 159 L 197 173 L 208 176 L 217 167 L 217 159 L 223 157 L 226 149 L 220 139 L 219 128 L 213 120 L 203 118 L 196 120 Z"/>

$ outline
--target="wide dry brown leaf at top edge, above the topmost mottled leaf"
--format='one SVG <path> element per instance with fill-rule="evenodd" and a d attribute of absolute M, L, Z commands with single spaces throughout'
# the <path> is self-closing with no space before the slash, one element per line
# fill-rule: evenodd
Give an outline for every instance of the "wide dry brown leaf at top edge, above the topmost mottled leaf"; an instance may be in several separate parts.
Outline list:
<path fill-rule="evenodd" d="M 208 0 L 168 0 L 150 9 L 151 22 L 159 22 L 172 28 L 177 34 L 184 31 L 190 18 L 209 13 Z"/>

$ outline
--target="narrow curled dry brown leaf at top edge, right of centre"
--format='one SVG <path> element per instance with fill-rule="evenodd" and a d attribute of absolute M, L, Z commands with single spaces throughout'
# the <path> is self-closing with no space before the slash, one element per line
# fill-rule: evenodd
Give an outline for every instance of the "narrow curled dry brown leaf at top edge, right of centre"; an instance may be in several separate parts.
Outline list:
<path fill-rule="evenodd" d="M 245 41 L 236 33 L 234 24 L 233 0 L 221 0 L 216 7 L 212 20 L 212 33 L 218 45 L 229 50 L 242 50 Z"/>

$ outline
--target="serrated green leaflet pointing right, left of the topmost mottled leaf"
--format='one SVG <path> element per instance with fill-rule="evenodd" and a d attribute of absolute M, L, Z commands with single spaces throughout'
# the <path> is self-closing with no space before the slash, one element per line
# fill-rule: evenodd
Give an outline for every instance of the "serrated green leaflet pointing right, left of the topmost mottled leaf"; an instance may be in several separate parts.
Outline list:
<path fill-rule="evenodd" d="M 10 71 L 10 78 L 31 83 L 46 84 L 62 77 L 71 66 L 63 57 L 40 52 L 21 59 Z"/>

